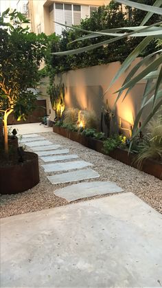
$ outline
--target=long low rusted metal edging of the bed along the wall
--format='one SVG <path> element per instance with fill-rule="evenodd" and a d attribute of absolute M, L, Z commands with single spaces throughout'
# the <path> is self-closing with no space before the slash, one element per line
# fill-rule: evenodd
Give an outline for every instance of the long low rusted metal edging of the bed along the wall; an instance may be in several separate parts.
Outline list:
<path fill-rule="evenodd" d="M 102 154 L 104 153 L 104 144 L 100 140 L 95 140 L 91 137 L 86 137 L 78 132 L 68 131 L 65 128 L 55 126 L 53 125 L 53 131 L 57 134 L 60 134 L 64 137 L 67 137 L 73 141 L 76 141 L 86 147 L 89 147 L 97 152 L 100 152 Z M 141 170 L 145 173 L 148 173 L 150 175 L 153 175 L 154 177 L 157 177 L 159 179 L 162 179 L 162 162 L 156 162 L 152 159 L 146 159 L 145 162 L 143 162 L 143 166 L 141 168 L 137 167 L 137 164 L 135 163 L 135 158 L 137 155 L 135 153 L 129 153 L 128 151 L 122 149 L 122 148 L 116 148 L 114 151 L 112 151 L 109 154 L 110 157 L 117 159 L 118 161 L 128 165 L 137 168 L 138 170 Z"/>

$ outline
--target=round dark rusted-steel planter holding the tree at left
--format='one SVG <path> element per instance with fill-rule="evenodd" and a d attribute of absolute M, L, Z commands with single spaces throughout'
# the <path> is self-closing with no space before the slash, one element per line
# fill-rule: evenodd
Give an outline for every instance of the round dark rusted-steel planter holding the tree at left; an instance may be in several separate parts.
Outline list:
<path fill-rule="evenodd" d="M 22 163 L 0 166 L 0 194 L 16 194 L 39 183 L 38 155 L 32 152 L 24 155 Z"/>

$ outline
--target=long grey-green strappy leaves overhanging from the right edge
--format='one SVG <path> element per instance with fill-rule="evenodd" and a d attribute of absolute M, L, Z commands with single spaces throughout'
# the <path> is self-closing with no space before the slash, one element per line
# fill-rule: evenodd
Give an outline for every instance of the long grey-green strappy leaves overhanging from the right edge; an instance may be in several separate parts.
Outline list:
<path fill-rule="evenodd" d="M 95 49 L 97 47 L 102 47 L 103 45 L 108 45 L 111 43 L 114 43 L 116 41 L 121 40 L 122 38 L 128 38 L 128 37 L 143 37 L 143 41 L 135 47 L 135 49 L 130 53 L 130 55 L 124 60 L 124 63 L 120 67 L 119 71 L 117 71 L 117 74 L 111 81 L 111 85 L 108 87 L 108 89 L 115 83 L 115 81 L 121 76 L 126 69 L 132 64 L 132 62 L 141 55 L 141 52 L 143 52 L 144 49 L 149 45 L 149 43 L 153 39 L 161 39 L 162 37 L 162 16 L 161 21 L 158 23 L 154 23 L 152 25 L 146 25 L 152 14 L 159 14 L 162 15 L 162 1 L 156 0 L 154 2 L 153 6 L 145 5 L 141 3 L 137 3 L 134 1 L 129 0 L 117 0 L 116 2 L 122 3 L 124 5 L 137 8 L 139 10 L 147 11 L 145 18 L 143 21 L 141 21 L 141 25 L 137 27 L 120 27 L 120 28 L 113 28 L 108 30 L 102 30 L 102 31 L 87 31 L 82 30 L 85 33 L 88 33 L 86 36 L 82 36 L 81 38 L 78 38 L 76 41 L 84 41 L 89 38 L 96 38 L 103 35 L 107 35 L 109 38 L 106 41 L 102 41 L 100 43 L 96 43 L 94 45 L 89 45 L 86 47 L 81 47 L 78 49 L 68 50 L 65 52 L 57 52 L 54 53 L 56 55 L 62 56 L 62 55 L 73 55 L 73 54 L 79 54 L 82 52 L 87 52 L 91 49 Z M 60 24 L 60 23 L 59 23 Z M 62 25 L 62 24 L 60 24 Z M 64 25 L 65 27 L 71 27 L 68 25 Z M 80 30 L 79 27 L 72 26 L 71 28 L 75 30 Z M 150 63 L 150 59 L 152 59 L 152 62 Z M 135 67 L 132 68 L 128 76 L 123 82 L 122 87 L 118 91 L 114 91 L 115 93 L 118 93 L 116 102 L 119 100 L 119 98 L 123 97 L 123 92 L 126 89 L 126 94 L 124 98 L 128 95 L 128 92 L 130 89 L 132 89 L 137 82 L 139 82 L 142 79 L 146 80 L 146 88 L 143 93 L 143 97 L 141 100 L 141 108 L 139 109 L 139 113 L 137 113 L 137 116 L 135 118 L 135 124 L 132 129 L 132 140 L 139 134 L 139 132 L 148 124 L 148 122 L 152 119 L 155 113 L 159 110 L 159 108 L 162 105 L 162 49 L 155 49 L 152 54 L 149 54 L 145 58 L 143 58 Z M 143 65 L 145 67 L 143 68 Z M 141 71 L 139 71 L 141 69 Z M 108 91 L 108 89 L 106 91 Z M 106 93 L 106 91 L 104 93 Z M 150 96 L 151 95 L 151 96 Z M 146 107 L 148 105 L 152 104 L 152 109 L 146 119 L 143 121 L 139 128 L 139 120 L 141 118 L 141 115 L 143 115 L 143 111 L 145 111 Z"/>

